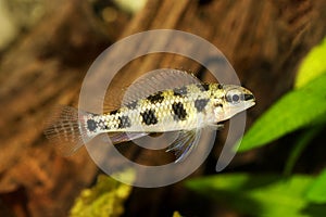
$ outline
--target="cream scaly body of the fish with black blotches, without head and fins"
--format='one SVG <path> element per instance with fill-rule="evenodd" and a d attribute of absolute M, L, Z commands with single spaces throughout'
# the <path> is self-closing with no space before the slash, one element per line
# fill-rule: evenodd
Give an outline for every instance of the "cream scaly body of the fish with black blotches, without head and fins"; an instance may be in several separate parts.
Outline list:
<path fill-rule="evenodd" d="M 211 84 L 206 89 L 201 85 L 189 85 L 181 89 L 183 91 L 170 89 L 151 94 L 138 100 L 133 108 L 123 106 L 104 115 L 89 115 L 85 118 L 88 132 L 162 132 L 193 129 L 202 127 L 210 119 L 214 122 L 206 110 L 212 111 L 213 103 L 216 103 L 211 98 L 221 98 L 222 102 L 223 91 L 218 89 L 218 85 Z M 181 94 L 175 94 L 175 91 Z"/>

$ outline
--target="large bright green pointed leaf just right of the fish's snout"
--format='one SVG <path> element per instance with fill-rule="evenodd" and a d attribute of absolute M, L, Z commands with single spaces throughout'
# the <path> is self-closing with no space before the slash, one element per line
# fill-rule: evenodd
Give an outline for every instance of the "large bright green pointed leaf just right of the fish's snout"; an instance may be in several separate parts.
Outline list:
<path fill-rule="evenodd" d="M 319 123 L 326 115 L 326 74 L 278 100 L 249 129 L 238 151 L 243 152 L 299 128 Z"/>

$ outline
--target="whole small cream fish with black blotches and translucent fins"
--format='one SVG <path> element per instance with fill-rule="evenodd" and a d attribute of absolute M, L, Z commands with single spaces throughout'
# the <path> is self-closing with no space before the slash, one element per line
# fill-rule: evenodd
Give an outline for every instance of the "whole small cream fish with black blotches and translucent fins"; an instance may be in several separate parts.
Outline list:
<path fill-rule="evenodd" d="M 63 155 L 71 155 L 101 133 L 117 144 L 177 131 L 166 152 L 173 152 L 178 163 L 197 146 L 203 128 L 220 130 L 223 122 L 254 104 L 253 93 L 241 86 L 202 82 L 185 71 L 162 68 L 137 79 L 117 110 L 95 114 L 72 106 L 58 108 L 45 135 Z"/>

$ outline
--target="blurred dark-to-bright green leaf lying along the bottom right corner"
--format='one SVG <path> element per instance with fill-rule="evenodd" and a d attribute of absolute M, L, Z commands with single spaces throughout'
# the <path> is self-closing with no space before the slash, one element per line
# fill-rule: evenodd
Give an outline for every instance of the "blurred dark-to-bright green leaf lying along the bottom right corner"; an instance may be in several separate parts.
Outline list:
<path fill-rule="evenodd" d="M 304 196 L 313 177 L 230 174 L 191 179 L 186 186 L 250 216 L 325 216 Z"/>

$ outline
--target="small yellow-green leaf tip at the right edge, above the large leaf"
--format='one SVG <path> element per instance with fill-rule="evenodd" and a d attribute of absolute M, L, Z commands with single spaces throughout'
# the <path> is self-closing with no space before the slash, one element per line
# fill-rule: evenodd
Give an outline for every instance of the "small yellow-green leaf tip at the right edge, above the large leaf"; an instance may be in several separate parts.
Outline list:
<path fill-rule="evenodd" d="M 296 88 L 303 87 L 304 85 L 326 72 L 325 56 L 326 38 L 322 41 L 321 44 L 313 48 L 302 61 L 294 82 Z"/>

